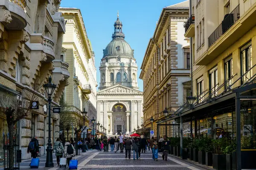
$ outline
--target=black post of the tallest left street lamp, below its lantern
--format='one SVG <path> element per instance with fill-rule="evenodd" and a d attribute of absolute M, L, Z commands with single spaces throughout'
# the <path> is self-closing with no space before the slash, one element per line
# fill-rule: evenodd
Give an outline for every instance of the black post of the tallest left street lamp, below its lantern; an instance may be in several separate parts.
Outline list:
<path fill-rule="evenodd" d="M 48 146 L 47 146 L 47 154 L 46 154 L 46 163 L 45 167 L 53 167 L 52 161 L 52 140 L 51 140 L 51 96 L 48 96 Z"/>

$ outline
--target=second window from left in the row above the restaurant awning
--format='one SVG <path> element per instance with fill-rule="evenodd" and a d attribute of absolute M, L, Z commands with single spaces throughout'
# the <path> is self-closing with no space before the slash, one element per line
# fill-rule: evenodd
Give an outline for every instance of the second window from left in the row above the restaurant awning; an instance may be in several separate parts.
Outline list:
<path fill-rule="evenodd" d="M 218 88 L 218 68 L 212 68 L 209 71 L 209 92 L 211 97 L 217 96 L 217 88 Z"/>

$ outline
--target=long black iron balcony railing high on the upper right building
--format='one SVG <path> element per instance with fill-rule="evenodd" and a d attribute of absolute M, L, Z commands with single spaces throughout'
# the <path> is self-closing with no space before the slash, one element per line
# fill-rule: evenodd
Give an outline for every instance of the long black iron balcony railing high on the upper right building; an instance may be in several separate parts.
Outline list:
<path fill-rule="evenodd" d="M 240 6 L 238 5 L 230 14 L 224 16 L 221 24 L 208 37 L 208 47 L 212 46 L 239 18 Z"/>

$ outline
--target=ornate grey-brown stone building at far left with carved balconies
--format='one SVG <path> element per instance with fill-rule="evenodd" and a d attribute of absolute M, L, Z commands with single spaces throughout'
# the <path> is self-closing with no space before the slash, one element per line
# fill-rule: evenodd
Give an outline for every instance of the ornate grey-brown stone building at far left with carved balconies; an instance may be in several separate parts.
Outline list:
<path fill-rule="evenodd" d="M 70 76 L 69 65 L 59 61 L 65 33 L 64 18 L 58 12 L 60 3 L 61 0 L 0 0 L 0 96 L 5 93 L 21 96 L 21 104 L 32 102 L 27 95 L 36 96 L 39 103 L 38 109 L 29 111 L 14 127 L 14 133 L 20 135 L 22 159 L 31 158 L 26 151 L 33 136 L 38 136 L 41 154 L 46 153 L 48 96 L 43 84 L 52 77 L 57 85 L 52 105 L 59 106 Z M 8 134 L 6 115 L 2 112 L 3 105 L 1 107 L 0 132 Z M 51 138 L 55 141 L 59 136 L 59 114 L 52 113 L 51 119 Z M 3 135 L 0 136 L 1 158 L 4 157 L 2 140 Z"/>

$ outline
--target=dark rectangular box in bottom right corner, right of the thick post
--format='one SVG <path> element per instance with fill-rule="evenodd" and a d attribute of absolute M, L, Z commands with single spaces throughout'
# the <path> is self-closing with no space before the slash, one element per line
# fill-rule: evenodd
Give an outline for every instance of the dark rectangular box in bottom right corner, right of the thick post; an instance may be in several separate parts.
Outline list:
<path fill-rule="evenodd" d="M 242 169 L 256 169 L 256 150 L 241 150 Z"/>

